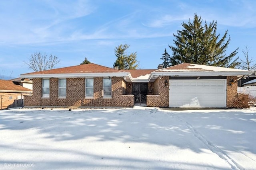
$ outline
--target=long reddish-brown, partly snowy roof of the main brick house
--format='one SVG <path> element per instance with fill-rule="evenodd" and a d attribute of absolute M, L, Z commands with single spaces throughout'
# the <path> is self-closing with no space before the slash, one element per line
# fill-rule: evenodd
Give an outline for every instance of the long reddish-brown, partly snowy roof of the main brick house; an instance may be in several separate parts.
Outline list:
<path fill-rule="evenodd" d="M 126 82 L 154 82 L 157 76 L 244 76 L 252 72 L 234 68 L 182 63 L 162 69 L 117 70 L 98 64 L 82 64 L 21 74 L 22 78 L 124 77 Z"/>

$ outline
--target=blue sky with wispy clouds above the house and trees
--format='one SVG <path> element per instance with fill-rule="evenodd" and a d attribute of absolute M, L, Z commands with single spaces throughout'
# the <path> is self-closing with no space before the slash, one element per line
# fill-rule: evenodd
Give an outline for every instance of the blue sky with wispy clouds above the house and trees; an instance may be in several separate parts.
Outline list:
<path fill-rule="evenodd" d="M 154 69 L 181 23 L 217 21 L 218 33 L 228 29 L 227 54 L 250 47 L 256 54 L 255 0 L 1 0 L 0 78 L 33 72 L 23 61 L 41 52 L 56 55 L 59 67 L 92 63 L 112 67 L 114 49 L 128 44 L 141 69 Z"/>

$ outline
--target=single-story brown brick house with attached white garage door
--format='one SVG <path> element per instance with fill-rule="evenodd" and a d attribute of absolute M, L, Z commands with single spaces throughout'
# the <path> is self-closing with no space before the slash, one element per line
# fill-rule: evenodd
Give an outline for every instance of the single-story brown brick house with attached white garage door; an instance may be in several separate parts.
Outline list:
<path fill-rule="evenodd" d="M 25 107 L 248 107 L 237 80 L 250 71 L 182 63 L 150 70 L 82 64 L 21 74 L 33 79 Z"/>

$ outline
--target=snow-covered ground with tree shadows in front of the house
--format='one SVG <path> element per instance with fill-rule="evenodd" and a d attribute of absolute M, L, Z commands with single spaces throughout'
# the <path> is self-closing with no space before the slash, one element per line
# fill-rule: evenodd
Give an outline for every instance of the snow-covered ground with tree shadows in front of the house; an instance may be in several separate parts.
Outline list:
<path fill-rule="evenodd" d="M 253 170 L 256 109 L 2 110 L 0 169 Z"/>

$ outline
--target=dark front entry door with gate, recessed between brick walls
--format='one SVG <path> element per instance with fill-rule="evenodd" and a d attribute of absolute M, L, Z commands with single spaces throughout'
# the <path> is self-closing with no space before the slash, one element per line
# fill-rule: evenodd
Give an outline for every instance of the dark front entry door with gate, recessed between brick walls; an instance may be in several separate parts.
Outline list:
<path fill-rule="evenodd" d="M 146 103 L 148 83 L 133 83 L 132 94 L 134 95 L 134 103 Z"/>

